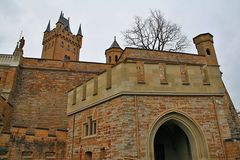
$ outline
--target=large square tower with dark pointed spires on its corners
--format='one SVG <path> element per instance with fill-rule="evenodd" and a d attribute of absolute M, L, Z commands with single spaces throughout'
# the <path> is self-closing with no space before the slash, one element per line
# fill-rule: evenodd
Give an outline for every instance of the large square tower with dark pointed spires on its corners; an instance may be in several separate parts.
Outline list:
<path fill-rule="evenodd" d="M 49 21 L 44 32 L 42 58 L 78 61 L 82 37 L 81 25 L 74 35 L 70 29 L 69 18 L 66 19 L 61 12 L 56 27 L 51 30 Z"/>

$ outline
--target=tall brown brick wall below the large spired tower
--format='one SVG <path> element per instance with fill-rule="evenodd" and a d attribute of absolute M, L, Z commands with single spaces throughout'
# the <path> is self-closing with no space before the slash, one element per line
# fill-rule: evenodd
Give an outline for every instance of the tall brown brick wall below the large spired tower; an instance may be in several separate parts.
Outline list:
<path fill-rule="evenodd" d="M 12 95 L 11 125 L 66 129 L 67 92 L 109 65 L 24 58 Z"/>

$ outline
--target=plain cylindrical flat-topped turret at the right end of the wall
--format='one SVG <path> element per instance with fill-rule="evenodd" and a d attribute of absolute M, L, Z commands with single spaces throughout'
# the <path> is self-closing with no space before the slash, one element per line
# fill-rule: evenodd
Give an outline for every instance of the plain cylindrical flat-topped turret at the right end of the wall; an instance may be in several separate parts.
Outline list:
<path fill-rule="evenodd" d="M 208 65 L 218 65 L 213 45 L 213 36 L 210 33 L 200 34 L 193 38 L 199 55 L 204 55 Z"/>

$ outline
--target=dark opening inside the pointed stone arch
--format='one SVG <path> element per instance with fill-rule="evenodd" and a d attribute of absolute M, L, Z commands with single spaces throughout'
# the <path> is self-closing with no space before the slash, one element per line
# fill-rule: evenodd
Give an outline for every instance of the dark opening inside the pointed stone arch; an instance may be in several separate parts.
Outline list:
<path fill-rule="evenodd" d="M 155 160 L 192 160 L 188 137 L 174 122 L 168 121 L 158 129 L 154 157 Z"/>

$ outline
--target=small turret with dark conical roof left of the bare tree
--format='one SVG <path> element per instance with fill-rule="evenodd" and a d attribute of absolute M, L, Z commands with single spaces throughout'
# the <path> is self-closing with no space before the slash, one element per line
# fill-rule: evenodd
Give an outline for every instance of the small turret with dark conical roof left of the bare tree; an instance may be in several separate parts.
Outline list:
<path fill-rule="evenodd" d="M 116 36 L 114 36 L 112 45 L 105 51 L 106 63 L 116 64 L 122 53 L 123 50 L 117 43 Z"/>

